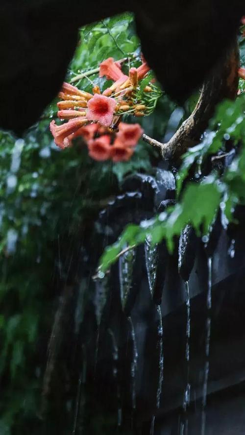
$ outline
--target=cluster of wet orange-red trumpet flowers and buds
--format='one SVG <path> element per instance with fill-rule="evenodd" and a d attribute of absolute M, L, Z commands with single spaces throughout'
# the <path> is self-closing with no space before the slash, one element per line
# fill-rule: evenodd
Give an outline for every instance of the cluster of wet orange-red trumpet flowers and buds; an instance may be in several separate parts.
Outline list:
<path fill-rule="evenodd" d="M 92 94 L 63 83 L 58 95 L 61 101 L 57 103 L 57 116 L 67 122 L 56 125 L 51 121 L 55 144 L 66 148 L 72 145 L 74 138 L 82 136 L 92 158 L 114 162 L 128 160 L 143 130 L 139 124 L 126 124 L 121 120 L 123 114 L 136 117 L 147 114 L 147 106 L 139 101 L 137 90 L 148 71 L 143 60 L 140 67 L 131 68 L 126 75 L 121 70 L 121 62 L 109 58 L 100 64 L 99 76 L 106 76 L 114 83 L 102 94 L 98 86 L 94 86 Z M 144 92 L 152 92 L 152 87 L 147 85 Z"/>

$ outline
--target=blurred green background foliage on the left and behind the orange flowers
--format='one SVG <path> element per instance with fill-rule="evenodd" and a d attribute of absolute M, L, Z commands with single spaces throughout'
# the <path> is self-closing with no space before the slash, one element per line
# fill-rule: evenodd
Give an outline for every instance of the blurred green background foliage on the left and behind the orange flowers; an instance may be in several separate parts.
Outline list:
<path fill-rule="evenodd" d="M 85 26 L 67 80 L 124 53 L 131 66 L 141 64 L 132 15 Z M 108 83 L 94 74 L 75 84 L 91 91 Z M 25 434 L 33 419 L 40 424 L 46 353 L 40 361 L 39 346 L 52 327 L 55 276 L 66 273 L 66 240 L 77 243 L 126 174 L 152 170 L 154 151 L 143 143 L 129 162 L 117 164 L 93 161 L 81 139 L 61 151 L 49 131 L 56 110 L 54 100 L 23 139 L 0 132 L 0 377 L 7 380 L 0 434 L 6 435 Z"/>

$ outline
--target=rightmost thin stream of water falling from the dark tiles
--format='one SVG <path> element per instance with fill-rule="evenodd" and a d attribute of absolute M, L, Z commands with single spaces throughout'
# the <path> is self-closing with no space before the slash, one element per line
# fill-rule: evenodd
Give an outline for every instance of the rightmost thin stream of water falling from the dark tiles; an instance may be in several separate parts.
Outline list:
<path fill-rule="evenodd" d="M 205 366 L 204 381 L 202 389 L 202 413 L 201 413 L 201 435 L 205 435 L 206 426 L 206 404 L 207 386 L 209 375 L 209 352 L 210 352 L 210 333 L 211 333 L 211 308 L 212 308 L 212 258 L 208 258 L 208 291 L 207 291 L 207 320 L 206 320 L 206 339 L 205 339 Z"/>

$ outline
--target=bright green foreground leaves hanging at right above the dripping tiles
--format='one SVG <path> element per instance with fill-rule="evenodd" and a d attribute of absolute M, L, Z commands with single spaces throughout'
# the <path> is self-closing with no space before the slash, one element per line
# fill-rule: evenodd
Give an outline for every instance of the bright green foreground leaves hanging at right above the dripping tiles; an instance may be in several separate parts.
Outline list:
<path fill-rule="evenodd" d="M 219 105 L 210 122 L 210 131 L 200 145 L 189 149 L 183 156 L 183 164 L 176 178 L 177 192 L 180 193 L 190 167 L 217 152 L 223 141 L 229 139 L 234 145 L 239 144 L 241 151 L 224 175 L 219 177 L 214 171 L 200 183 L 189 182 L 174 207 L 139 226 L 129 225 L 120 239 L 107 247 L 102 255 L 99 265 L 101 272 L 105 272 L 118 259 L 125 246 L 138 245 L 145 242 L 147 237 L 150 237 L 152 244 L 166 239 L 172 251 L 174 236 L 179 236 L 187 223 L 195 228 L 197 234 L 208 234 L 220 203 L 226 217 L 232 219 L 234 205 L 245 200 L 245 95 Z"/>

